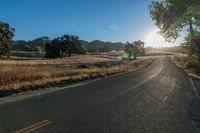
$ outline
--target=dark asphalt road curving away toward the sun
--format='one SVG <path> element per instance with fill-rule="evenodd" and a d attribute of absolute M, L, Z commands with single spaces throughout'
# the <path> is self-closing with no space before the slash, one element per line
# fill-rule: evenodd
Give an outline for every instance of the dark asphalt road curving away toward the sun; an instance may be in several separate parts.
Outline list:
<path fill-rule="evenodd" d="M 198 133 L 188 77 L 160 57 L 149 67 L 0 103 L 0 133 Z"/>

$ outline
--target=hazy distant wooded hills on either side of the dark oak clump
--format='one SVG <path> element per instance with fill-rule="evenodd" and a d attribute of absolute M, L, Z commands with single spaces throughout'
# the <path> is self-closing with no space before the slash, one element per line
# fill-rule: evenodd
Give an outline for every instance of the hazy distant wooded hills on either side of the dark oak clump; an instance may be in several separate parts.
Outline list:
<path fill-rule="evenodd" d="M 51 43 L 53 40 L 49 37 L 40 37 L 33 40 L 25 41 L 18 40 L 13 42 L 12 51 L 28 51 L 28 52 L 45 52 L 45 46 L 47 43 Z M 121 42 L 104 42 L 100 40 L 84 41 L 80 40 L 83 46 L 90 53 L 97 52 L 110 52 L 110 51 L 122 51 L 125 44 Z"/>

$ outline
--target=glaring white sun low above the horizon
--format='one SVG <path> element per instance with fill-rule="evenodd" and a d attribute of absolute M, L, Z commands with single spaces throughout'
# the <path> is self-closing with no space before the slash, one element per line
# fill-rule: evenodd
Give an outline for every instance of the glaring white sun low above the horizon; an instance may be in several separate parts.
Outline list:
<path fill-rule="evenodd" d="M 145 39 L 146 47 L 170 47 L 171 45 L 171 43 L 165 41 L 157 30 L 149 32 Z"/>

